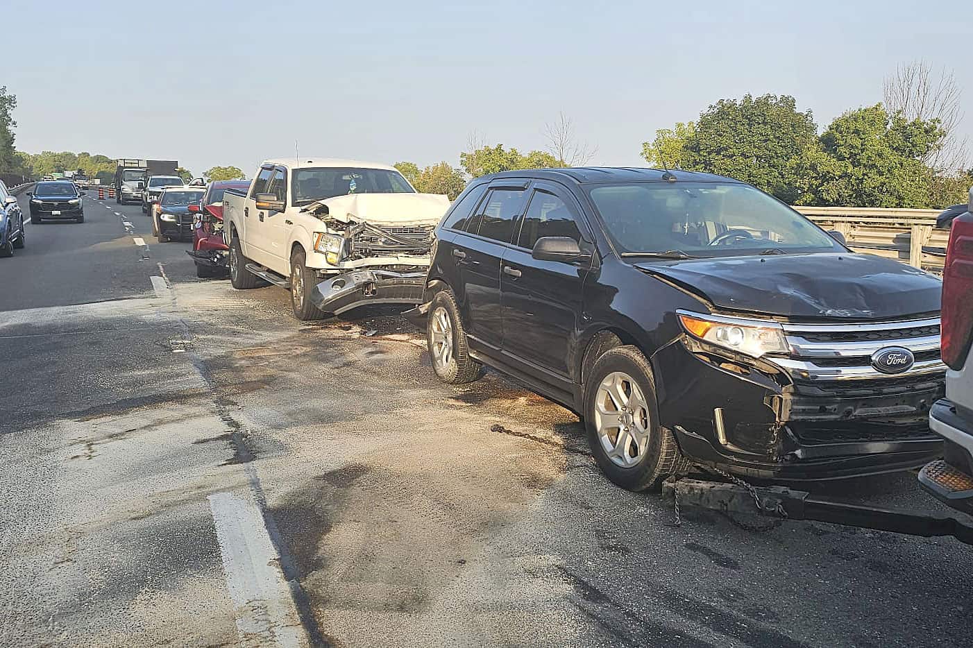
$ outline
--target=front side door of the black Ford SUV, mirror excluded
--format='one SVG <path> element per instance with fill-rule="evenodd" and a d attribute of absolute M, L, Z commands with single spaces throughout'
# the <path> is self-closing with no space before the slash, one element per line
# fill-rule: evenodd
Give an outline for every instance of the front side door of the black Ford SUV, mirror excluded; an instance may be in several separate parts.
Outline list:
<path fill-rule="evenodd" d="M 500 272 L 503 349 L 544 370 L 544 378 L 568 378 L 571 340 L 582 313 L 582 292 L 592 261 L 563 263 L 531 256 L 538 238 L 568 236 L 583 250 L 593 237 L 577 201 L 550 182 L 534 182 L 515 245 L 504 252 Z M 534 373 L 537 373 L 536 371 Z"/>

